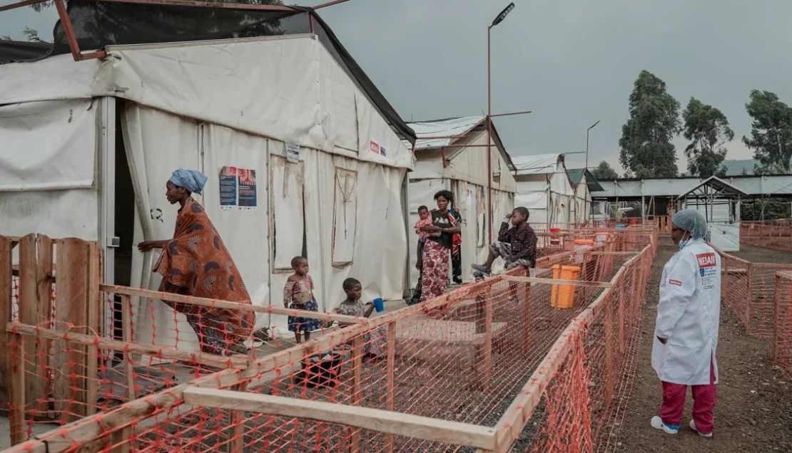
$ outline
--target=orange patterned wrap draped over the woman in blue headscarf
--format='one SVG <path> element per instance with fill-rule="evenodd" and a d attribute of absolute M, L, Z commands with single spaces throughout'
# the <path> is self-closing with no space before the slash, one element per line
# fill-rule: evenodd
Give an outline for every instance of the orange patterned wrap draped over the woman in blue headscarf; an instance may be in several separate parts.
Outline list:
<path fill-rule="evenodd" d="M 179 210 L 173 240 L 162 248 L 154 271 L 162 274 L 161 289 L 170 293 L 251 304 L 226 245 L 204 208 L 193 198 Z M 191 312 L 185 305 L 188 304 L 171 304 L 178 311 Z M 253 328 L 252 311 L 242 314 L 226 308 L 204 310 L 208 317 L 230 322 L 239 337 L 247 337 Z"/>

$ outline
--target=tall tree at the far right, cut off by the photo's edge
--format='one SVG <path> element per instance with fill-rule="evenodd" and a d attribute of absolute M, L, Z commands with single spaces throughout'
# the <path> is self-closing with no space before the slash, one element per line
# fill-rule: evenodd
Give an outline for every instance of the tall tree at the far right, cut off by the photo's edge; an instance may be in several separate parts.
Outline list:
<path fill-rule="evenodd" d="M 751 115 L 751 138 L 743 142 L 753 149 L 757 174 L 789 173 L 792 158 L 792 108 L 779 100 L 775 92 L 752 90 L 748 104 Z"/>

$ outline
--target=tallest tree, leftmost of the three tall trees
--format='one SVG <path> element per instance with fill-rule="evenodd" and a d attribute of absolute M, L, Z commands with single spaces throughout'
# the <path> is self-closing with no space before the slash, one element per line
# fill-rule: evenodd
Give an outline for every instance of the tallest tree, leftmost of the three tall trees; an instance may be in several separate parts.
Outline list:
<path fill-rule="evenodd" d="M 630 93 L 630 119 L 622 126 L 619 162 L 631 175 L 676 176 L 672 138 L 680 131 L 680 103 L 665 82 L 643 70 Z"/>

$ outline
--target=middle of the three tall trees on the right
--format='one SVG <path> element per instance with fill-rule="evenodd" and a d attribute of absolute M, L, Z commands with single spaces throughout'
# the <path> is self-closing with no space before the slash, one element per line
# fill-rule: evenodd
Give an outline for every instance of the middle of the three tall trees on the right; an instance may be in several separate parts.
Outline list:
<path fill-rule="evenodd" d="M 684 137 L 690 140 L 685 148 L 687 171 L 691 175 L 708 178 L 726 173 L 723 160 L 726 149 L 723 145 L 734 138 L 726 115 L 717 108 L 691 97 L 687 108 L 682 112 Z"/>

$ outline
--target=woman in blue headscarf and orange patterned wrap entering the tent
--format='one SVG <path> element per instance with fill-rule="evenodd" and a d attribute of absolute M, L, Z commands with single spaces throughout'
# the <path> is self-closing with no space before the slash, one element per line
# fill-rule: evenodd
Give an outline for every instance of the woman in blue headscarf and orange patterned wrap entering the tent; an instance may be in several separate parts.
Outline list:
<path fill-rule="evenodd" d="M 209 221 L 204 208 L 192 193 L 204 190 L 207 177 L 195 170 L 179 168 L 166 183 L 166 198 L 179 204 L 172 240 L 149 240 L 138 244 L 140 251 L 162 248 L 154 272 L 162 274 L 163 293 L 206 297 L 251 304 L 242 276 L 223 240 Z M 206 353 L 247 353 L 242 344 L 255 321 L 253 311 L 209 308 L 201 305 L 165 302 L 187 316 Z"/>

